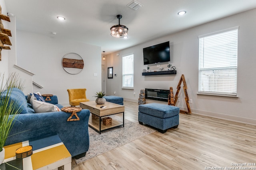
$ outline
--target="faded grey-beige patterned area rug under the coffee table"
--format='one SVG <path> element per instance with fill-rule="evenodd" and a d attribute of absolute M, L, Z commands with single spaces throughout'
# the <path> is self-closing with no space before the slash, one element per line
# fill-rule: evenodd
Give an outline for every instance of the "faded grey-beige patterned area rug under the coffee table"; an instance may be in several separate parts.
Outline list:
<path fill-rule="evenodd" d="M 122 121 L 122 117 L 113 115 L 109 117 L 112 117 L 112 119 L 118 121 Z M 121 126 L 102 131 L 101 134 L 94 131 L 90 127 L 88 127 L 88 130 L 90 147 L 86 152 L 86 156 L 80 159 L 74 159 L 77 164 L 120 147 L 126 143 L 132 142 L 155 131 L 154 129 L 150 129 L 149 127 L 140 125 L 139 123 L 134 123 L 126 119 L 124 119 L 124 127 Z"/>

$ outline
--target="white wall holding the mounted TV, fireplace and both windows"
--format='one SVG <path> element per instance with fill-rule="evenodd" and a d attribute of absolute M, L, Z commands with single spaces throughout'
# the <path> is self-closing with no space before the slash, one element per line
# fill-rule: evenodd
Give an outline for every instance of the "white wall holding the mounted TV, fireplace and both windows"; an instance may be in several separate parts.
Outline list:
<path fill-rule="evenodd" d="M 188 96 L 192 113 L 200 113 L 223 119 L 256 124 L 256 9 L 236 14 L 227 18 L 212 21 L 191 29 L 171 34 L 153 41 L 137 45 L 116 53 L 107 55 L 107 67 L 113 66 L 118 76 L 107 79 L 107 94 L 122 96 L 126 100 L 138 101 L 140 89 L 156 88 L 169 89 L 173 87 L 174 95 L 180 76 L 184 74 L 188 86 Z M 238 99 L 199 96 L 198 93 L 198 36 L 206 33 L 239 26 L 238 30 Z M 142 49 L 158 43 L 170 41 L 172 66 L 176 66 L 176 75 L 142 76 L 143 65 Z M 134 53 L 134 90 L 122 90 L 122 55 Z M 117 56 L 116 54 L 119 54 Z M 160 64 L 167 68 L 168 63 Z M 156 64 L 150 65 L 150 70 L 156 70 Z M 183 84 L 182 84 L 183 85 Z M 136 96 L 134 96 L 134 92 Z M 181 102 L 176 106 L 186 110 L 183 100 L 184 92 L 180 90 Z M 165 102 L 166 103 L 166 102 Z"/>

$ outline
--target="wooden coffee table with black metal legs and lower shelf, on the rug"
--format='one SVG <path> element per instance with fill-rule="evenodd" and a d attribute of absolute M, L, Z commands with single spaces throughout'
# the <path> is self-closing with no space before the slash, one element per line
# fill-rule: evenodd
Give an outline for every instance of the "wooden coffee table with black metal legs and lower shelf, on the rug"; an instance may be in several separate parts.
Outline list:
<path fill-rule="evenodd" d="M 106 106 L 106 108 L 100 108 L 100 106 Z M 105 102 L 104 104 L 96 104 L 95 101 L 89 101 L 89 102 L 80 102 L 80 107 L 82 109 L 89 109 L 90 112 L 94 115 L 97 115 L 99 119 L 92 119 L 92 117 L 89 118 L 89 126 L 92 127 L 92 129 L 98 131 L 100 134 L 102 131 L 111 129 L 118 126 L 124 127 L 124 106 L 120 104 L 114 104 L 110 102 Z M 115 115 L 118 113 L 123 113 L 123 122 L 119 122 L 112 119 L 111 125 L 103 125 L 101 119 L 102 117 L 106 117 L 109 115 Z"/>

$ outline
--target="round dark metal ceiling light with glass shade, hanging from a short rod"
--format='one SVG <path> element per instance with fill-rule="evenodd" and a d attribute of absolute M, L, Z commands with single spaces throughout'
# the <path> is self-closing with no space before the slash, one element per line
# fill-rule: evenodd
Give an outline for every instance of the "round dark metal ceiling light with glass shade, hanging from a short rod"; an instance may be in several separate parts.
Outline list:
<path fill-rule="evenodd" d="M 111 35 L 116 38 L 127 38 L 128 35 L 128 28 L 124 25 L 120 25 L 120 19 L 122 18 L 121 15 L 117 15 L 116 18 L 119 20 L 118 25 L 114 25 L 110 28 Z"/>

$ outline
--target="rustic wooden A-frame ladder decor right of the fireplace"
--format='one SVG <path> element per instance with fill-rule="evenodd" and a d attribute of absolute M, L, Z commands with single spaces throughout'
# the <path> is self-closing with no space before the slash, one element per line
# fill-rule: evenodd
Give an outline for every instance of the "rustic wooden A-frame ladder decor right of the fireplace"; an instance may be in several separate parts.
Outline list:
<path fill-rule="evenodd" d="M 178 83 L 178 86 L 177 86 L 177 92 L 175 94 L 175 97 L 173 96 L 173 89 L 172 87 L 170 87 L 170 91 L 169 91 L 169 95 L 168 95 L 168 105 L 171 105 L 171 106 L 175 106 L 176 105 L 176 102 L 178 101 L 178 94 L 180 92 L 180 85 L 181 83 L 183 82 L 183 90 L 184 90 L 184 93 L 185 93 L 185 102 L 186 102 L 186 105 L 187 105 L 187 108 L 188 108 L 188 111 L 184 111 L 184 110 L 180 110 L 180 113 L 184 113 L 184 114 L 191 114 L 191 109 L 190 109 L 190 105 L 189 105 L 189 98 L 188 98 L 188 92 L 187 92 L 187 84 L 186 84 L 186 80 L 185 80 L 185 76 L 184 74 L 181 75 L 180 77 L 180 81 Z"/>

